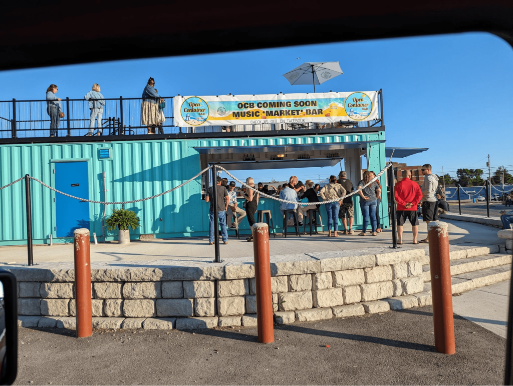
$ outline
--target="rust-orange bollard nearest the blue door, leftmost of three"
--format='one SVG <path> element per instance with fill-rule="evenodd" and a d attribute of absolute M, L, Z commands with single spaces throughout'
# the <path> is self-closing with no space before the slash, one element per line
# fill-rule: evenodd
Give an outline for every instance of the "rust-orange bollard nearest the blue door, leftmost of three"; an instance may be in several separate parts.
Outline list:
<path fill-rule="evenodd" d="M 76 336 L 85 338 L 93 333 L 91 310 L 91 254 L 89 251 L 89 229 L 75 229 L 75 297 Z"/>

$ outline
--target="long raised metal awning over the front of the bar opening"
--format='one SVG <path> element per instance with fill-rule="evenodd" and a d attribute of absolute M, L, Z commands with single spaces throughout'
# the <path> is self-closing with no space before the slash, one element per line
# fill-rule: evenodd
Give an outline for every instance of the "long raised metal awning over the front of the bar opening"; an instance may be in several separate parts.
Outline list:
<path fill-rule="evenodd" d="M 265 146 L 221 146 L 221 147 L 193 147 L 200 154 L 229 154 L 229 153 L 292 153 L 311 150 L 343 150 L 365 149 L 368 145 L 383 144 L 384 140 L 336 142 L 329 144 L 304 144 L 304 145 L 265 145 Z M 423 149 L 422 151 L 427 150 Z"/>

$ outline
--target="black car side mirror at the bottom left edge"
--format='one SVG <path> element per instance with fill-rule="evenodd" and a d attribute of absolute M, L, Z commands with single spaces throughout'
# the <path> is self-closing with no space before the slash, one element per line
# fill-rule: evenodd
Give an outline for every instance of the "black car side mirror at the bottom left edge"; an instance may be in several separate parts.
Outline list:
<path fill-rule="evenodd" d="M 18 372 L 18 299 L 16 277 L 0 270 L 0 386 L 14 383 Z"/>

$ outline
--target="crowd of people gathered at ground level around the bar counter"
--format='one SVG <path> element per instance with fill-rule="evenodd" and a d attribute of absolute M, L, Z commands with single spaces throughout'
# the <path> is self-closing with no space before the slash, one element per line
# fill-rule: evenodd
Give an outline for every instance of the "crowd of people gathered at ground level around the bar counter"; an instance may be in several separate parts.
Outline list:
<path fill-rule="evenodd" d="M 402 171 L 399 182 L 397 182 L 394 198 L 397 202 L 397 226 L 398 226 L 398 243 L 403 243 L 403 226 L 408 220 L 412 226 L 413 244 L 428 243 L 429 235 L 423 240 L 418 241 L 419 217 L 427 224 L 431 221 L 438 220 L 440 213 L 447 213 L 449 205 L 443 197 L 437 193 L 438 176 L 431 173 L 431 165 L 422 166 L 422 174 L 424 182 L 419 186 L 417 182 L 411 180 L 411 172 L 409 170 Z M 379 204 L 381 201 L 382 188 L 379 180 L 374 180 L 376 174 L 372 171 L 365 171 L 363 178 L 356 184 L 356 190 L 360 196 L 360 211 L 362 213 L 363 224 L 362 231 L 359 236 L 367 235 L 367 228 L 370 225 L 370 233 L 377 236 L 382 232 L 380 227 Z M 345 171 L 341 171 L 338 176 L 331 175 L 328 184 L 322 188 L 319 184 L 314 184 L 308 179 L 304 182 L 299 181 L 297 176 L 291 176 L 289 181 L 278 187 L 272 185 L 264 185 L 262 182 L 257 184 L 255 188 L 253 178 L 246 179 L 246 184 L 255 188 L 247 189 L 243 187 L 239 192 L 235 191 L 235 182 L 228 183 L 227 178 L 217 177 L 216 191 L 218 194 L 218 217 L 221 225 L 221 235 L 223 242 L 228 243 L 227 229 L 237 229 L 238 224 L 244 217 L 247 217 L 248 224 L 252 229 L 255 223 L 255 214 L 260 200 L 261 193 L 277 196 L 289 202 L 280 202 L 280 212 L 285 216 L 285 211 L 290 215 L 285 219 L 286 227 L 294 226 L 298 221 L 299 226 L 303 226 L 303 221 L 309 209 L 319 209 L 320 202 L 326 202 L 325 207 L 328 219 L 328 237 L 338 237 L 339 219 L 342 221 L 343 234 L 353 235 L 354 206 L 352 196 L 349 193 L 354 192 L 355 187 L 351 180 L 347 178 Z M 213 188 L 207 191 L 207 202 L 212 202 Z M 386 194 L 386 190 L 385 190 Z M 243 197 L 243 208 L 239 207 L 237 198 Z M 340 199 L 341 197 L 344 197 Z M 299 205 L 298 202 L 307 200 L 308 205 Z M 418 212 L 420 210 L 420 213 Z M 292 213 L 291 213 L 292 212 Z M 513 220 L 513 211 L 507 215 Z M 315 220 L 313 220 L 315 221 Z M 312 221 L 312 222 L 313 222 Z M 210 204 L 210 228 L 209 242 L 214 241 L 214 213 L 212 204 Z M 253 236 L 247 237 L 247 241 L 252 241 Z"/>

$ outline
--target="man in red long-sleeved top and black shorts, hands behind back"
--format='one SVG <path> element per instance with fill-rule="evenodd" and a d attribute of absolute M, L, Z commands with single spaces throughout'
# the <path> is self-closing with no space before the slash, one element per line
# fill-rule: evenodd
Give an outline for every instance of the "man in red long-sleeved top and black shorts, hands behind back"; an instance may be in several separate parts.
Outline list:
<path fill-rule="evenodd" d="M 403 243 L 403 225 L 406 219 L 409 219 L 413 233 L 413 243 L 418 244 L 419 218 L 417 217 L 417 205 L 422 199 L 422 191 L 419 184 L 411 180 L 411 171 L 403 170 L 403 179 L 396 185 L 395 197 L 397 202 L 397 243 Z"/>

